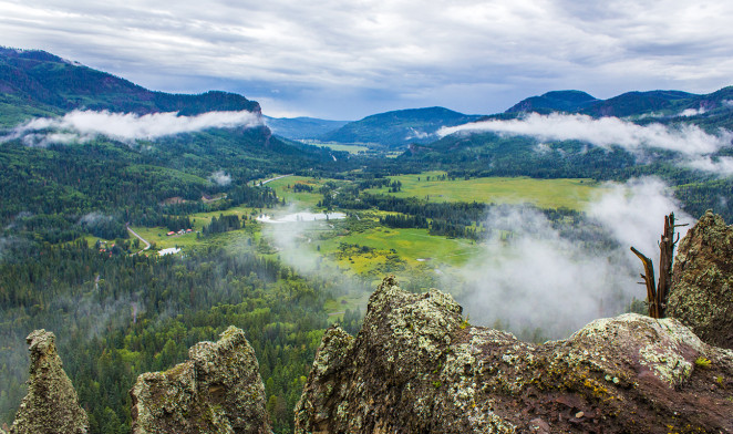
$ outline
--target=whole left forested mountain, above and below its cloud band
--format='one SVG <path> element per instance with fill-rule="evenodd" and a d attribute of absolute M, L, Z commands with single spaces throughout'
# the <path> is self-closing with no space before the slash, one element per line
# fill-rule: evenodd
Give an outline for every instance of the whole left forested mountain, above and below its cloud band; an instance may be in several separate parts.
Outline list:
<path fill-rule="evenodd" d="M 259 104 L 241 95 L 152 92 L 43 51 L 0 49 L 0 125 L 17 126 L 23 120 L 60 116 L 74 108 L 173 111 L 182 116 L 249 111 L 255 118 L 260 116 Z M 31 137 L 47 133 L 42 130 Z M 177 208 L 192 213 L 236 204 L 262 206 L 276 198 L 247 187 L 248 180 L 271 173 L 318 173 L 335 163 L 333 152 L 287 144 L 261 124 L 134 141 L 79 135 L 70 143 L 50 141 L 40 146 L 29 145 L 13 130 L 0 136 L 0 225 L 12 224 L 19 232 L 50 242 L 69 241 L 89 230 L 105 238 L 125 237 L 125 221 L 161 225 L 165 214 L 180 213 Z M 202 202 L 203 196 L 216 194 L 227 199 Z M 171 198 L 186 205 L 166 205 Z M 81 219 L 91 213 L 105 217 L 103 230 L 82 227 Z"/>

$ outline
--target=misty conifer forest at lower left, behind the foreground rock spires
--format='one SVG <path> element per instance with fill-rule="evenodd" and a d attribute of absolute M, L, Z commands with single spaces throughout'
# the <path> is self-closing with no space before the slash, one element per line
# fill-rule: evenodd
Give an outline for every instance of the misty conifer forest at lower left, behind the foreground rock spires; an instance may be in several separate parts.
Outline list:
<path fill-rule="evenodd" d="M 130 432 L 127 391 L 140 373 L 165 370 L 188 347 L 234 324 L 257 353 L 276 433 L 292 432 L 314 351 L 327 327 L 334 278 L 307 280 L 252 254 L 219 248 L 185 258 L 109 256 L 82 242 L 18 239 L 0 264 L 0 421 L 24 394 L 24 337 L 56 333 L 64 369 L 90 415 L 91 433 Z M 355 330 L 359 313 L 344 322 Z"/>

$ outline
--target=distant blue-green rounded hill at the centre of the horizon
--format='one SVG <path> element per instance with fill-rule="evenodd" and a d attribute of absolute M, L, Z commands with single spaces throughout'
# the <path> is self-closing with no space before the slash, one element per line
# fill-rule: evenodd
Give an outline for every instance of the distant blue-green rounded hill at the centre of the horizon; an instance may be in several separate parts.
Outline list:
<path fill-rule="evenodd" d="M 404 147 L 410 143 L 433 142 L 437 138 L 435 132 L 441 127 L 465 124 L 479 117 L 444 107 L 399 110 L 350 122 L 321 138 L 340 143 L 375 143 Z"/>

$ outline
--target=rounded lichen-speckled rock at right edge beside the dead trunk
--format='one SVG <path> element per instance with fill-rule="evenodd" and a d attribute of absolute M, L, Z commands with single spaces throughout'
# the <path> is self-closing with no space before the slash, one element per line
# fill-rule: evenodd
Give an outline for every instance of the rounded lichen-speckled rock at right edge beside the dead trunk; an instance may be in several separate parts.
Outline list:
<path fill-rule="evenodd" d="M 712 211 L 680 241 L 667 312 L 703 341 L 733 349 L 733 226 Z"/>

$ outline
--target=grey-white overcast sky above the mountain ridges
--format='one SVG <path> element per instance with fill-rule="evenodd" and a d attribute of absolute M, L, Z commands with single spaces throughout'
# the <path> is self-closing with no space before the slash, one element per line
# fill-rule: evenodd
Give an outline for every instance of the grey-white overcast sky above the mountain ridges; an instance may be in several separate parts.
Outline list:
<path fill-rule="evenodd" d="M 0 0 L 1 45 L 153 90 L 233 91 L 265 114 L 504 111 L 579 89 L 733 84 L 725 0 Z"/>

